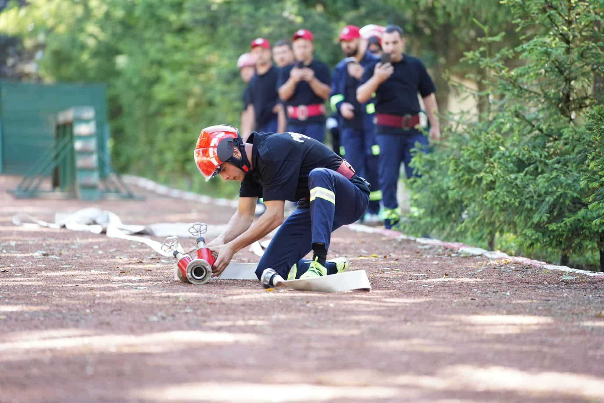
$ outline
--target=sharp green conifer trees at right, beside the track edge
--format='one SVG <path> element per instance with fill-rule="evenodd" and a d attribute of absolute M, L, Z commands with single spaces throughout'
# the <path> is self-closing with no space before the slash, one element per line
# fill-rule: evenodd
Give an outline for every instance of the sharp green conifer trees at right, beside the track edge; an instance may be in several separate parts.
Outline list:
<path fill-rule="evenodd" d="M 466 53 L 465 62 L 489 73 L 481 79 L 489 104 L 477 121 L 458 117 L 463 124 L 451 127 L 449 144 L 414 161 L 425 171 L 412 185 L 424 211 L 406 229 L 480 237 L 491 247 L 512 239 L 568 263 L 570 254 L 604 248 L 602 114 L 594 109 L 604 98 L 594 91 L 604 63 L 604 2 L 501 3 L 528 34 L 495 53 L 489 45 L 501 34 L 484 37 Z"/>

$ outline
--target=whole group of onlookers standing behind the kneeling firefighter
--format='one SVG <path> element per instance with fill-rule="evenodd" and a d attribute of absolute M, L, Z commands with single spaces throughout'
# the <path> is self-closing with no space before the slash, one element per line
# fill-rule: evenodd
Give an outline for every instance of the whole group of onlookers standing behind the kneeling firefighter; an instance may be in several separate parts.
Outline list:
<path fill-rule="evenodd" d="M 403 53 L 397 25 L 347 25 L 338 39 L 344 59 L 333 73 L 313 57 L 309 30 L 295 31 L 291 45 L 252 40 L 237 60 L 247 83 L 240 131 L 244 138 L 252 131 L 295 132 L 323 142 L 327 129 L 335 152 L 371 183 L 365 221 L 391 228 L 400 218 L 400 164 L 408 177 L 415 175 L 411 150 L 419 143 L 427 151 L 426 130 L 432 140 L 440 137 L 435 86 L 421 60 Z"/>

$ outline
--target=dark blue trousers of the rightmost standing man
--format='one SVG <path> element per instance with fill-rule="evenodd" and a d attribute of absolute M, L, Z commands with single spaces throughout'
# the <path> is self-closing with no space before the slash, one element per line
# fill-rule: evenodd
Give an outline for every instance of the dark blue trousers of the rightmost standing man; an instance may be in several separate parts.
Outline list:
<path fill-rule="evenodd" d="M 397 208 L 399 203 L 396 199 L 396 187 L 399 181 L 400 163 L 405 164 L 407 178 L 417 175 L 409 166 L 413 157 L 411 149 L 416 147 L 416 143 L 420 143 L 423 147 L 418 149 L 428 152 L 428 138 L 416 129 L 410 129 L 400 131 L 399 134 L 378 132 L 376 139 L 380 149 L 379 181 L 384 208 Z"/>

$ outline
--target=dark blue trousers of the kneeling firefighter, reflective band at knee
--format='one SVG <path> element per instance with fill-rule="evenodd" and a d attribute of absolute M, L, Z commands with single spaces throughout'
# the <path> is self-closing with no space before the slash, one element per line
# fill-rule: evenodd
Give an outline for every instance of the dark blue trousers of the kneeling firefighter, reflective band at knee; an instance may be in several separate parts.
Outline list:
<path fill-rule="evenodd" d="M 308 176 L 311 192 L 310 207 L 299 205 L 281 224 L 275 237 L 260 258 L 256 276 L 260 279 L 266 268 L 274 269 L 287 279 L 289 270 L 297 265 L 296 278 L 308 269 L 303 259 L 313 243 L 325 243 L 329 250 L 332 232 L 342 225 L 357 221 L 367 210 L 369 195 L 344 176 L 327 168 L 315 168 Z M 328 274 L 336 272 L 335 263 L 327 263 Z"/>

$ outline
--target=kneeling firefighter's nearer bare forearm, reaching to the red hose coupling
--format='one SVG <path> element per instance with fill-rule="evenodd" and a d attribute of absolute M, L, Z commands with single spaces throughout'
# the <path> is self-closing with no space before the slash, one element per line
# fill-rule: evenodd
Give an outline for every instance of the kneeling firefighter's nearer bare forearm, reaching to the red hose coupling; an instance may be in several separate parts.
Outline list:
<path fill-rule="evenodd" d="M 242 250 L 252 242 L 262 239 L 281 225 L 285 202 L 283 200 L 271 200 L 265 201 L 265 205 L 265 213 L 247 231 L 225 243 L 225 245 L 210 248 L 211 251 L 218 254 L 216 262 L 212 266 L 212 277 L 220 276 L 237 251 Z M 252 212 L 252 218 L 253 216 L 254 213 Z"/>

